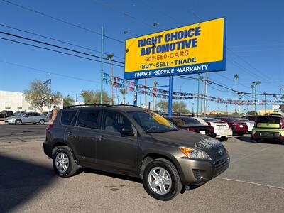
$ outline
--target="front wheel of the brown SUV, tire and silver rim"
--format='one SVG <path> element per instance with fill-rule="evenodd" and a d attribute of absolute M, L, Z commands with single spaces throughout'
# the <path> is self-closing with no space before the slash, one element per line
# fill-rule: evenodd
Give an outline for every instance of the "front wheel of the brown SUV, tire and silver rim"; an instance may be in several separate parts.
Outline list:
<path fill-rule="evenodd" d="M 160 175 L 161 171 L 162 173 L 165 171 L 165 173 Z M 160 181 L 160 183 L 155 183 L 157 181 Z M 152 187 L 150 182 L 153 183 Z M 178 170 L 173 163 L 170 163 L 169 160 L 165 160 L 164 158 L 158 158 L 146 165 L 143 173 L 143 186 L 151 197 L 163 201 L 172 200 L 182 190 L 182 182 L 180 181 Z"/>

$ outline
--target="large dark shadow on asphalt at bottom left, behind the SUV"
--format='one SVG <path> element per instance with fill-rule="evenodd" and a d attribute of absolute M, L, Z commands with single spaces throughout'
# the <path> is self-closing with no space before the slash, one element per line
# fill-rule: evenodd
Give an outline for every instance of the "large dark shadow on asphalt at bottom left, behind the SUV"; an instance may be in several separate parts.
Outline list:
<path fill-rule="evenodd" d="M 0 212 L 30 200 L 55 180 L 52 169 L 31 162 L 0 155 Z"/>

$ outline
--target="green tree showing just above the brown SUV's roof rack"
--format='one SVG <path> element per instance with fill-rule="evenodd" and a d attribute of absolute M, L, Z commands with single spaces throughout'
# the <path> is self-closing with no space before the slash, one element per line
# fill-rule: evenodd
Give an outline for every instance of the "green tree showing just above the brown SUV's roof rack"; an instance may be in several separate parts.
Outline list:
<path fill-rule="evenodd" d="M 92 91 L 92 90 L 82 90 L 80 92 L 80 96 L 84 99 L 85 104 L 99 104 L 101 99 L 100 91 Z M 102 92 L 102 103 L 109 104 L 111 103 L 111 97 L 107 92 Z"/>

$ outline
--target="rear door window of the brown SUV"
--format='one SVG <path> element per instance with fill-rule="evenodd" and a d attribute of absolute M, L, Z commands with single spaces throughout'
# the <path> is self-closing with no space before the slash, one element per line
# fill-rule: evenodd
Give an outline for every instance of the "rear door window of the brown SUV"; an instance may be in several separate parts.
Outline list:
<path fill-rule="evenodd" d="M 99 111 L 88 110 L 80 111 L 77 126 L 98 129 L 99 128 Z"/>

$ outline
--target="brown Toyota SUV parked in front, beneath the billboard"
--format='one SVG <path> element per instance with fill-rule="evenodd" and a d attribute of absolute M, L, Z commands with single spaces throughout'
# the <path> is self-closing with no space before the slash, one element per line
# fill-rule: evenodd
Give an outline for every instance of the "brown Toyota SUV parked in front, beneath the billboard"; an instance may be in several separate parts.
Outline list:
<path fill-rule="evenodd" d="M 179 130 L 153 111 L 119 104 L 58 111 L 46 128 L 43 150 L 60 177 L 75 175 L 78 168 L 129 175 L 141 178 L 158 200 L 208 182 L 230 161 L 214 138 Z"/>

